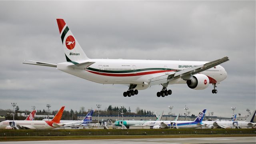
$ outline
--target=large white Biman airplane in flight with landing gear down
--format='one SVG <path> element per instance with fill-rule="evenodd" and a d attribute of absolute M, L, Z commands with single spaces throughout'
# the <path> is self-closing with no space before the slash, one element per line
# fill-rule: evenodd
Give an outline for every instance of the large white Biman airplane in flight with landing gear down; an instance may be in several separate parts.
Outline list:
<path fill-rule="evenodd" d="M 28 60 L 39 66 L 55 67 L 58 70 L 97 82 L 100 84 L 124 84 L 129 86 L 123 96 L 138 94 L 152 85 L 162 85 L 157 96 L 172 94 L 167 90 L 169 84 L 187 84 L 194 90 L 204 90 L 213 85 L 212 93 L 217 93 L 216 84 L 227 77 L 227 72 L 220 66 L 228 57 L 212 62 L 174 61 L 174 60 L 123 60 L 90 59 L 86 56 L 78 41 L 63 19 L 57 19 L 62 44 L 67 62 L 52 64 Z"/>

